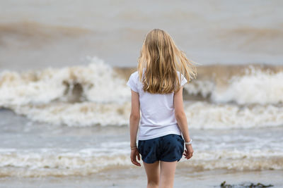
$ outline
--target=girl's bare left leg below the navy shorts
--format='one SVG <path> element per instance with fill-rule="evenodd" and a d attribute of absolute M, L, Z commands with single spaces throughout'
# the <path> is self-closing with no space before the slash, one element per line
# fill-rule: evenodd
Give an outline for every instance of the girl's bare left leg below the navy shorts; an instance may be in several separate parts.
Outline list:
<path fill-rule="evenodd" d="M 157 188 L 159 184 L 159 161 L 144 163 L 147 175 L 147 188 Z"/>

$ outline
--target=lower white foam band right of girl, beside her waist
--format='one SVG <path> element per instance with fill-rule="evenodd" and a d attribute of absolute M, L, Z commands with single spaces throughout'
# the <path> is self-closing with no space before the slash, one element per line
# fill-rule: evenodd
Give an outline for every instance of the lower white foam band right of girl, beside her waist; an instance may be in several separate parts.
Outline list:
<path fill-rule="evenodd" d="M 197 129 L 247 129 L 283 125 L 283 107 L 271 104 L 238 106 L 236 104 L 186 103 L 189 127 Z"/>

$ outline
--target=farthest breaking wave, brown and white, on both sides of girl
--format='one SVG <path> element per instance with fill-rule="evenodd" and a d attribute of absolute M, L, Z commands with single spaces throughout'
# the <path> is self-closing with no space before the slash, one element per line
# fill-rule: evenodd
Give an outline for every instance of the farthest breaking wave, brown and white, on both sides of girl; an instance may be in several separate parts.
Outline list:
<path fill-rule="evenodd" d="M 126 82 L 134 68 L 113 68 L 101 59 L 88 57 L 88 65 L 45 68 L 23 73 L 0 74 L 0 106 L 66 102 L 127 101 Z M 185 84 L 184 98 L 211 103 L 282 104 L 282 66 L 200 66 L 198 77 Z"/>

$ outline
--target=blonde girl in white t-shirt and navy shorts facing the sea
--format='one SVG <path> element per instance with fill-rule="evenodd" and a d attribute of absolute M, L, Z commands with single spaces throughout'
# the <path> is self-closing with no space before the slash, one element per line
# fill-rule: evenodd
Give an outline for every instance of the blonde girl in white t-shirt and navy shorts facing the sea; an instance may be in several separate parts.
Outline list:
<path fill-rule="evenodd" d="M 173 187 L 177 161 L 183 155 L 187 159 L 192 157 L 192 139 L 183 109 L 183 85 L 196 75 L 195 66 L 167 32 L 155 29 L 146 35 L 137 71 L 129 77 L 127 85 L 132 92 L 131 161 L 141 166 L 137 162 L 141 154 L 148 188 Z"/>

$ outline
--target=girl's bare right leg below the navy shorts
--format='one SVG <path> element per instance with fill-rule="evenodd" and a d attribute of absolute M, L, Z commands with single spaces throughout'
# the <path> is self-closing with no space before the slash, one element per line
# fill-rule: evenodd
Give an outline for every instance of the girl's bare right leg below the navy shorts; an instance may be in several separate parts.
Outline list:
<path fill-rule="evenodd" d="M 161 161 L 160 169 L 160 187 L 161 188 L 172 188 L 174 185 L 174 175 L 176 170 L 177 161 L 165 162 Z"/>

